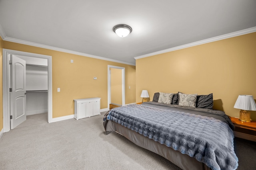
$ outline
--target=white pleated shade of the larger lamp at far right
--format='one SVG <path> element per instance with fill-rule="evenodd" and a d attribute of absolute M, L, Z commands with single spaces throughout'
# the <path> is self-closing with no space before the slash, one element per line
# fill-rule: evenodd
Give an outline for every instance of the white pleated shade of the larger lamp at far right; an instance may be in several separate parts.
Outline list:
<path fill-rule="evenodd" d="M 256 111 L 256 103 L 251 95 L 239 95 L 234 108 Z"/>

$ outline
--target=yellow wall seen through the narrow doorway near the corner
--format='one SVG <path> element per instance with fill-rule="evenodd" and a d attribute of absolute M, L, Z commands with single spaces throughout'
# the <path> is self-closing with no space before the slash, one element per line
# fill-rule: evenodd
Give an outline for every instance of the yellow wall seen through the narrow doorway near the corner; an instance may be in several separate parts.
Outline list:
<path fill-rule="evenodd" d="M 122 69 L 111 70 L 111 103 L 122 106 Z"/>

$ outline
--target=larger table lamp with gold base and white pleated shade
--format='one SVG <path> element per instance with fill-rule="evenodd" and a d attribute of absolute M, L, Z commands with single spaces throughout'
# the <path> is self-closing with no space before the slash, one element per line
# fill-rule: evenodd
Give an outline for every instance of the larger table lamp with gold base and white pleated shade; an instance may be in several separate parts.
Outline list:
<path fill-rule="evenodd" d="M 250 95 L 239 95 L 234 108 L 241 109 L 239 120 L 244 122 L 251 122 L 250 112 L 247 110 L 256 111 L 256 103 Z"/>

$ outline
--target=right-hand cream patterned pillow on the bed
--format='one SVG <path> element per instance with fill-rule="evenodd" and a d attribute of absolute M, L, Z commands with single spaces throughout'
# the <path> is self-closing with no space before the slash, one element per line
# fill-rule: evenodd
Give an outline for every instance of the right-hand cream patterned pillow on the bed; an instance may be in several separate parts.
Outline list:
<path fill-rule="evenodd" d="M 196 107 L 196 96 L 197 94 L 179 94 L 179 106 Z"/>

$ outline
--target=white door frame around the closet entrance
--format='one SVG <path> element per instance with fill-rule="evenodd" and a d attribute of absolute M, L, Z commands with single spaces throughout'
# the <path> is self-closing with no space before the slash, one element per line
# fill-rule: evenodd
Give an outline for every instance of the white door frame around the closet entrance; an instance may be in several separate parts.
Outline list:
<path fill-rule="evenodd" d="M 38 59 L 47 60 L 47 87 L 48 87 L 48 123 L 52 122 L 52 56 L 40 55 L 35 53 L 27 53 L 22 51 L 15 51 L 3 49 L 3 126 L 4 132 L 10 131 L 10 55 L 19 55 L 26 57 L 34 57 Z"/>

